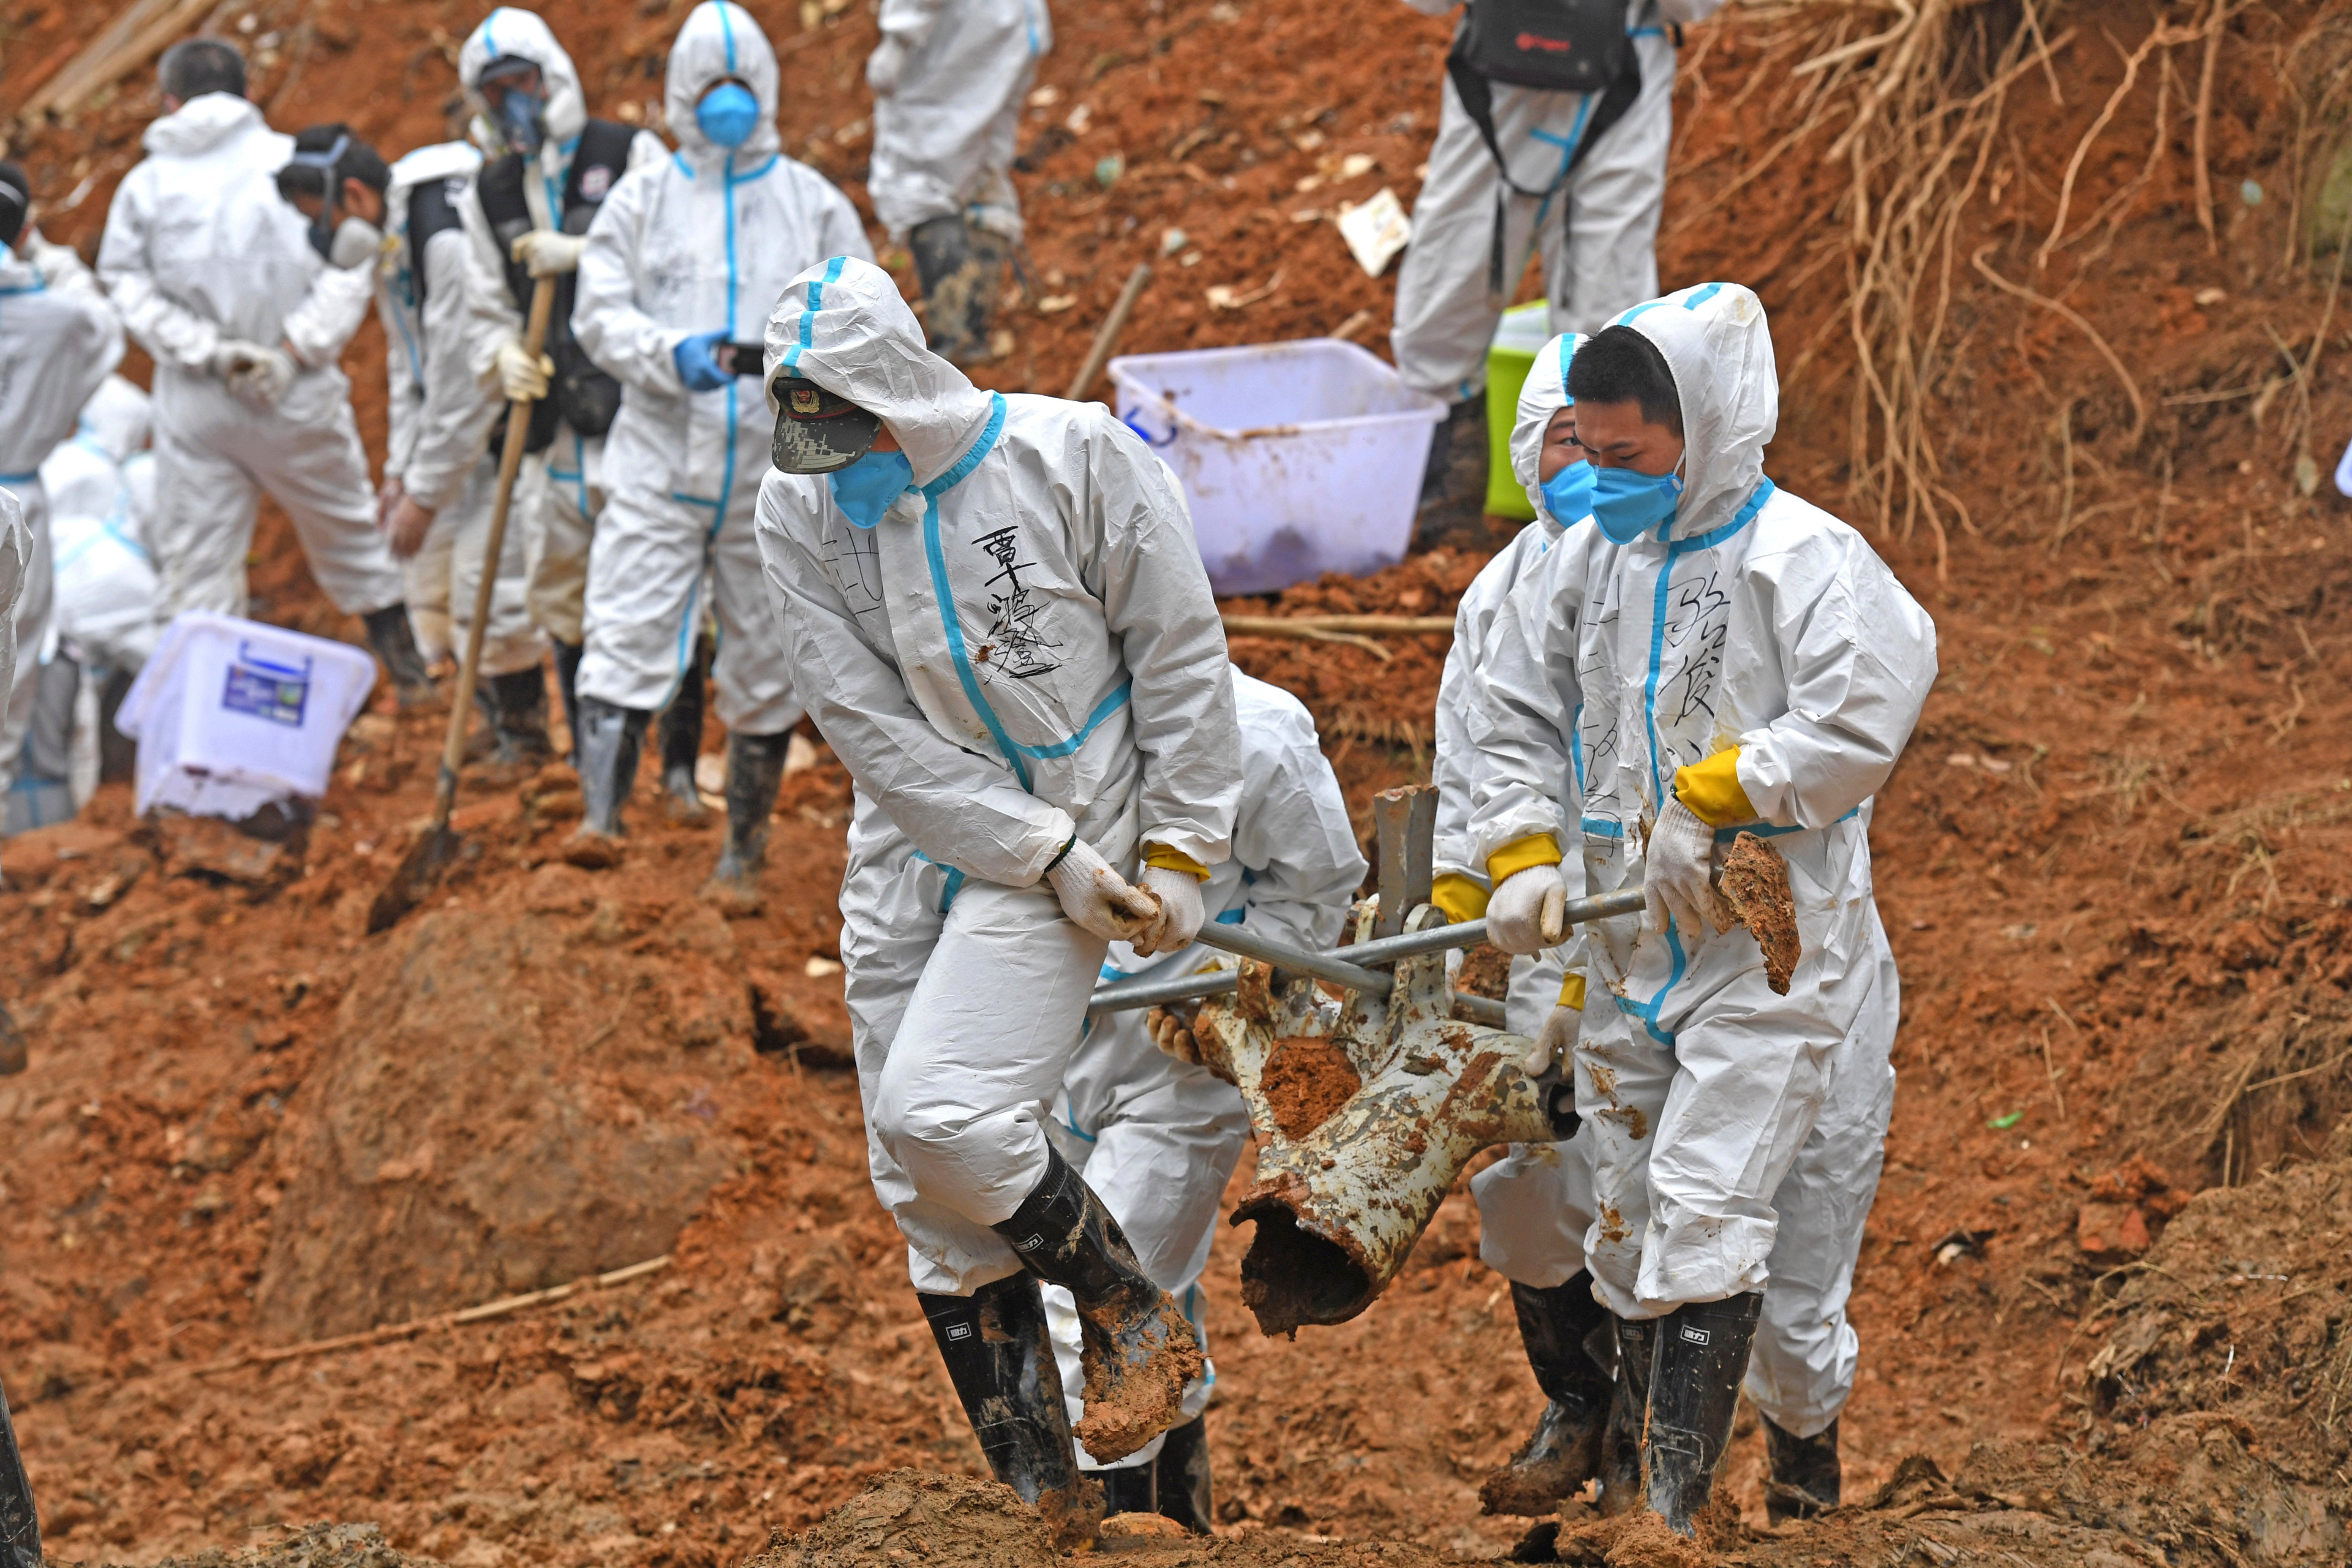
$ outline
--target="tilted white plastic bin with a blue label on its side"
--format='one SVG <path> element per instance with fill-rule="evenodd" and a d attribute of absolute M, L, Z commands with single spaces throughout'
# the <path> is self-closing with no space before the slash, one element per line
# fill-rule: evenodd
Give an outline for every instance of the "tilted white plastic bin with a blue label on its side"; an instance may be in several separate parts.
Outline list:
<path fill-rule="evenodd" d="M 136 806 L 242 820 L 318 799 L 376 684 L 348 642 L 188 611 L 165 628 L 115 726 L 139 741 Z"/>

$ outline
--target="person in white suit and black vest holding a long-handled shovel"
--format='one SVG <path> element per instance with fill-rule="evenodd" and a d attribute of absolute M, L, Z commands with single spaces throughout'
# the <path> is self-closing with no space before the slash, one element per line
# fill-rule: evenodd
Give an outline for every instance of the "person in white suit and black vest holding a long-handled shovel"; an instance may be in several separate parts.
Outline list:
<path fill-rule="evenodd" d="M 529 611 L 555 644 L 555 684 L 579 748 L 576 677 L 588 592 L 588 545 L 604 510 L 604 433 L 621 383 L 572 331 L 574 273 L 588 223 L 630 169 L 670 155 L 661 136 L 590 120 L 572 56 L 536 12 L 501 5 L 456 54 L 459 85 L 489 162 L 459 205 L 466 223 L 466 303 L 475 313 L 473 371 L 501 400 L 534 400 L 524 442 L 543 484 L 527 520 Z M 546 350 L 524 348 L 532 284 L 555 280 Z"/>

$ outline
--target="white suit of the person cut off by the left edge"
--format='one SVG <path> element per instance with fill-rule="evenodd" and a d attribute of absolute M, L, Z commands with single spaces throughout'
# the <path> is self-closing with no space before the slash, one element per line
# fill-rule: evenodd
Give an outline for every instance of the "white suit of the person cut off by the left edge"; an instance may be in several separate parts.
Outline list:
<path fill-rule="evenodd" d="M 56 571 L 40 465 L 122 362 L 122 322 L 82 259 L 64 244 L 28 242 L 28 249 L 35 261 L 0 252 L 0 489 L 16 496 L 31 550 L 12 611 L 16 665 L 0 686 L 0 792 L 16 780 L 52 642 Z"/>

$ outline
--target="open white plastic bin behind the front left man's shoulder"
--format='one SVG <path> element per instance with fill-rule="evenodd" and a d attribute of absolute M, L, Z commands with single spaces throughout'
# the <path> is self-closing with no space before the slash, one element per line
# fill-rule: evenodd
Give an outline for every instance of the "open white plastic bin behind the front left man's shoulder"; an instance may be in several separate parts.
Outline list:
<path fill-rule="evenodd" d="M 1446 404 L 1355 343 L 1122 355 L 1110 386 L 1127 428 L 1183 482 L 1216 592 L 1378 571 L 1414 543 Z"/>

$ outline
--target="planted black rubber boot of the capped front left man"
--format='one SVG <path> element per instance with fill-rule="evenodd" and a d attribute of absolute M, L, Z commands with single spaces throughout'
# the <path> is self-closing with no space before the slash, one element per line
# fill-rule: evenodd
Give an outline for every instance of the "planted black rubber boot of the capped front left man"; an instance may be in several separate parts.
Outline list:
<path fill-rule="evenodd" d="M 1014 1274 L 971 1295 L 917 1291 L 915 1298 L 988 1455 L 988 1472 L 1054 1521 L 1077 1512 L 1070 1410 L 1037 1279 Z"/>

